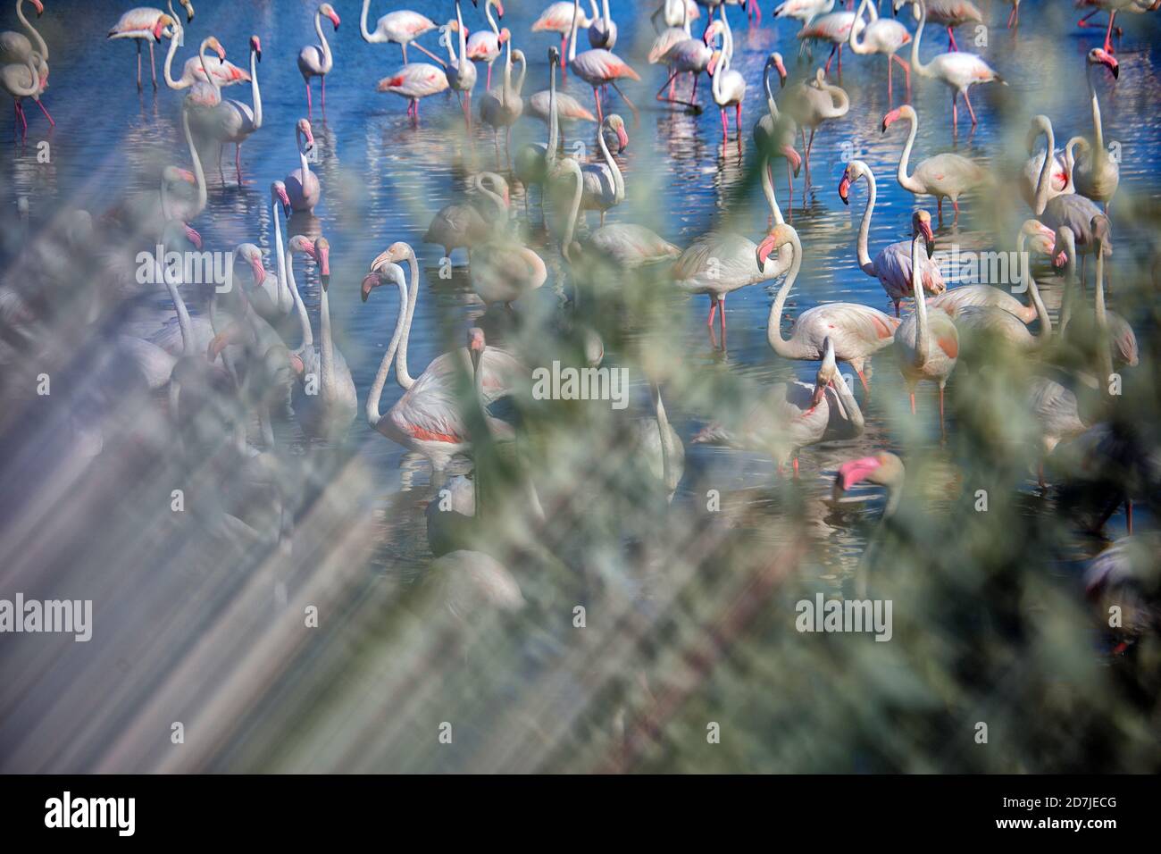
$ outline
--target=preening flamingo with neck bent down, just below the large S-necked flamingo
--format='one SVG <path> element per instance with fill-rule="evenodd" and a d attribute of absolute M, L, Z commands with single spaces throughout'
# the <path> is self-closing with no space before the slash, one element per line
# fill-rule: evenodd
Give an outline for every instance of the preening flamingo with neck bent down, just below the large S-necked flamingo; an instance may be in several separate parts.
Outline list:
<path fill-rule="evenodd" d="M 861 436 L 863 410 L 838 375 L 830 338 L 823 339 L 822 350 L 814 385 L 798 380 L 776 383 L 751 404 L 736 430 L 714 422 L 698 431 L 691 444 L 769 453 L 779 472 L 793 459 L 798 478 L 798 455 L 803 447 Z"/>

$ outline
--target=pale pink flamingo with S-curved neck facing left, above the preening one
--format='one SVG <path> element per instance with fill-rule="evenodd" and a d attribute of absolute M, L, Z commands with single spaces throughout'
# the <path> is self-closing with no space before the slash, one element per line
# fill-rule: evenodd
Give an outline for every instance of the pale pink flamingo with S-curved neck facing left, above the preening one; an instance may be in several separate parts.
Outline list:
<path fill-rule="evenodd" d="M 763 263 L 772 251 L 781 251 L 785 246 L 791 247 L 791 270 L 770 306 L 766 320 L 766 342 L 771 350 L 784 359 L 819 361 L 825 358 L 829 340 L 835 358 L 854 368 L 863 388 L 870 392 L 864 368 L 872 356 L 890 345 L 900 322 L 879 309 L 857 302 L 828 302 L 800 314 L 791 328 L 789 338 L 784 338 L 783 309 L 802 268 L 802 244 L 792 225 L 778 223 L 757 249 L 758 261 Z"/>

